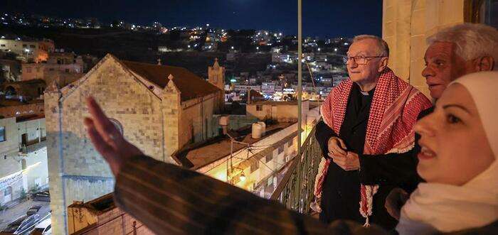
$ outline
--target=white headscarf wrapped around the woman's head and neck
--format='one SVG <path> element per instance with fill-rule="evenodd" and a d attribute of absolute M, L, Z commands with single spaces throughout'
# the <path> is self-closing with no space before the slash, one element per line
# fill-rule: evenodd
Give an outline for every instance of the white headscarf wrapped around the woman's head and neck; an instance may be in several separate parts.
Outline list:
<path fill-rule="evenodd" d="M 455 83 L 474 99 L 495 159 L 462 186 L 420 183 L 401 209 L 399 234 L 460 231 L 498 220 L 498 72 L 472 73 Z"/>

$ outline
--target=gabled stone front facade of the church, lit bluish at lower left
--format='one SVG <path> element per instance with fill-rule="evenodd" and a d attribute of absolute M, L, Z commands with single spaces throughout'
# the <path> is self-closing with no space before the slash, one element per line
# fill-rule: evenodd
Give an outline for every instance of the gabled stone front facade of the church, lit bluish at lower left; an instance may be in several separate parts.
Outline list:
<path fill-rule="evenodd" d="M 124 137 L 145 154 L 164 160 L 161 100 L 116 60 L 102 60 L 73 87 L 46 92 L 51 180 L 52 223 L 55 234 L 65 234 L 66 207 L 92 200 L 113 190 L 110 169 L 90 142 L 83 118 L 89 116 L 85 98 L 93 96 Z"/>

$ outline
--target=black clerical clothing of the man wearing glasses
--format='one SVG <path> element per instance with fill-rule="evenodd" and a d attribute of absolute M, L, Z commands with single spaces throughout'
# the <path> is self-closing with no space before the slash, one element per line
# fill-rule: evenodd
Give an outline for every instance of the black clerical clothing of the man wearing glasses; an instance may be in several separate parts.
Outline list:
<path fill-rule="evenodd" d="M 339 131 L 339 138 L 346 144 L 347 151 L 359 155 L 364 151 L 366 126 L 369 121 L 373 93 L 374 89 L 368 94 L 362 94 L 357 84 L 351 88 L 346 114 Z M 323 123 L 320 124 L 320 126 L 323 125 Z M 320 126 L 317 126 L 317 135 L 321 132 L 319 129 L 323 129 Z M 337 133 L 332 133 L 332 136 L 337 136 Z M 324 155 L 327 157 L 327 153 Z M 386 196 L 392 188 L 393 186 L 389 185 L 379 187 L 377 194 L 373 197 L 373 214 L 370 217 L 370 222 L 386 229 L 392 229 L 396 225 L 396 220 L 390 217 L 383 207 Z M 364 223 L 365 218 L 359 212 L 359 202 L 359 170 L 346 171 L 339 165 L 331 163 L 323 184 L 320 220 L 329 223 L 337 219 L 351 219 Z"/>

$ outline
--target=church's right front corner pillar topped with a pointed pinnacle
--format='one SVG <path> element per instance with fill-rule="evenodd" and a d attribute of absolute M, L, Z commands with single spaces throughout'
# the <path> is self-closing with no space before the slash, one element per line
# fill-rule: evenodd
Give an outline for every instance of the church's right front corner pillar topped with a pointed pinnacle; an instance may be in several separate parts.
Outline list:
<path fill-rule="evenodd" d="M 162 90 L 161 109 L 164 124 L 164 161 L 174 163 L 171 154 L 180 148 L 181 97 L 180 90 L 174 84 L 173 75 Z"/>

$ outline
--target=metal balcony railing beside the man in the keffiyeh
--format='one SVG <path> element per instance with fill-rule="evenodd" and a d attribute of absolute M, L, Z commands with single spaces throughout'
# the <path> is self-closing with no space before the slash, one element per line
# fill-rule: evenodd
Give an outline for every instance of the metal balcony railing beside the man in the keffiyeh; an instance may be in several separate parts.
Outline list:
<path fill-rule="evenodd" d="M 292 160 L 271 200 L 277 200 L 296 212 L 308 214 L 313 200 L 314 180 L 322 159 L 322 150 L 314 137 L 316 125 L 302 143 L 302 155 Z"/>

